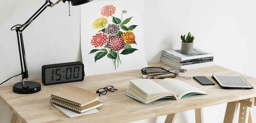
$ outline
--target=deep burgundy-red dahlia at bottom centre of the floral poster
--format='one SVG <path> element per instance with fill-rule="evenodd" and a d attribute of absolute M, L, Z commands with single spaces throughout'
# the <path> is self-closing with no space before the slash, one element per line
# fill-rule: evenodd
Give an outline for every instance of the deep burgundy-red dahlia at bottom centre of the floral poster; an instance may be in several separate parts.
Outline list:
<path fill-rule="evenodd" d="M 124 39 L 122 36 L 115 35 L 108 40 L 107 45 L 111 50 L 120 51 L 124 48 Z"/>

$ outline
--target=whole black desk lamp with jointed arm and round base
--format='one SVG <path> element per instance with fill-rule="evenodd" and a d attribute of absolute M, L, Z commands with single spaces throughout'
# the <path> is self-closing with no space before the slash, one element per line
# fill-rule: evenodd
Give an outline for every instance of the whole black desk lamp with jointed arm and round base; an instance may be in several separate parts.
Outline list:
<path fill-rule="evenodd" d="M 26 55 L 25 55 L 25 48 L 23 43 L 23 36 L 22 31 L 29 26 L 29 24 L 34 21 L 38 15 L 40 15 L 47 7 L 53 7 L 54 5 L 60 3 L 63 1 L 68 1 L 68 3 L 71 1 L 71 5 L 81 5 L 84 3 L 88 3 L 92 0 L 58 0 L 55 4 L 53 4 L 50 0 L 46 0 L 45 4 L 42 5 L 41 8 L 38 9 L 37 12 L 34 13 L 33 16 L 29 18 L 23 25 L 14 25 L 11 30 L 16 30 L 17 39 L 18 39 L 18 46 L 19 46 L 19 57 L 20 57 L 20 66 L 21 66 L 21 75 L 22 79 L 21 82 L 18 82 L 14 84 L 13 86 L 13 92 L 18 94 L 32 94 L 39 92 L 41 90 L 41 85 L 37 82 L 33 81 L 25 81 L 24 79 L 29 78 L 28 70 L 27 70 L 27 62 L 26 62 Z M 49 3 L 49 4 L 48 4 Z M 70 11 L 69 11 L 70 16 Z M 15 29 L 13 29 L 15 27 Z"/>

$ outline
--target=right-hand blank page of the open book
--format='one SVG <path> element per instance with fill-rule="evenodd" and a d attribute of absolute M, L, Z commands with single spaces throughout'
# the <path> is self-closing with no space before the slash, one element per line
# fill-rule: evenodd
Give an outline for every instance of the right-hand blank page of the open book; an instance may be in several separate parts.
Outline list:
<path fill-rule="evenodd" d="M 178 99 L 193 95 L 189 93 L 206 94 L 206 92 L 178 79 L 166 78 L 166 79 L 160 80 L 158 84 L 166 88 L 170 92 L 173 92 L 174 94 L 176 94 L 178 96 Z"/>

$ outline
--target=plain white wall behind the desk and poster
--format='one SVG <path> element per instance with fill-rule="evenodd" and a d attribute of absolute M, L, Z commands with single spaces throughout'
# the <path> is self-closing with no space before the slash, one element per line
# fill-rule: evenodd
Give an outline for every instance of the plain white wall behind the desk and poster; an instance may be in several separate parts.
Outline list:
<path fill-rule="evenodd" d="M 56 2 L 57 0 L 52 0 Z M 20 73 L 15 24 L 23 24 L 44 0 L 8 0 L 0 4 L 0 82 Z M 180 35 L 191 32 L 194 45 L 215 54 L 216 64 L 256 78 L 255 0 L 145 0 L 144 41 L 148 63 L 160 61 L 163 49 L 181 47 Z M 23 32 L 29 80 L 41 78 L 45 64 L 82 61 L 80 8 L 60 3 L 47 8 Z M 19 82 L 20 76 L 9 80 Z M 223 122 L 226 104 L 204 108 L 204 122 Z M 256 108 L 253 108 L 256 119 Z M 0 122 L 10 122 L 11 111 L 0 101 Z M 166 116 L 137 122 L 163 122 Z M 194 111 L 178 113 L 176 123 L 195 122 Z"/>

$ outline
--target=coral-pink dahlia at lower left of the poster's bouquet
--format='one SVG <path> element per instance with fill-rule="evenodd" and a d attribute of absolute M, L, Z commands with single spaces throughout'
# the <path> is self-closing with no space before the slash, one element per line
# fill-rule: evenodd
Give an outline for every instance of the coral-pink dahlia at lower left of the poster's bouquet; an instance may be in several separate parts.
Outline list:
<path fill-rule="evenodd" d="M 105 33 L 97 33 L 93 36 L 93 39 L 91 39 L 91 45 L 96 47 L 102 47 L 103 44 L 105 44 L 108 40 L 108 35 Z"/>

